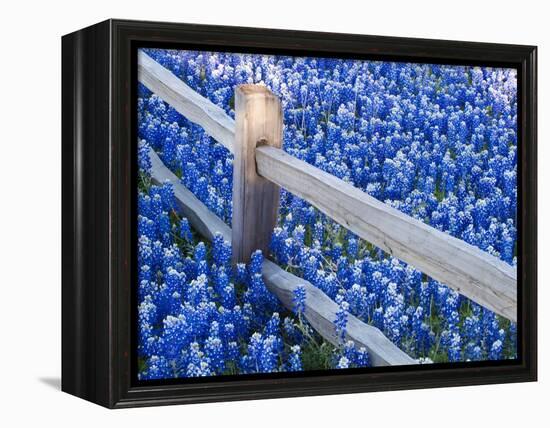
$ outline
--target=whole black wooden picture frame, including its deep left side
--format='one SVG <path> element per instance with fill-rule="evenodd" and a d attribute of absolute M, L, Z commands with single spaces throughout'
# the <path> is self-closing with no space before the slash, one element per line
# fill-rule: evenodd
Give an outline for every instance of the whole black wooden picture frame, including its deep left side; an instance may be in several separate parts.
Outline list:
<path fill-rule="evenodd" d="M 135 87 L 140 46 L 518 70 L 518 360 L 138 383 Z M 62 38 L 62 390 L 109 408 L 537 379 L 537 49 L 490 43 L 107 20 Z"/>

